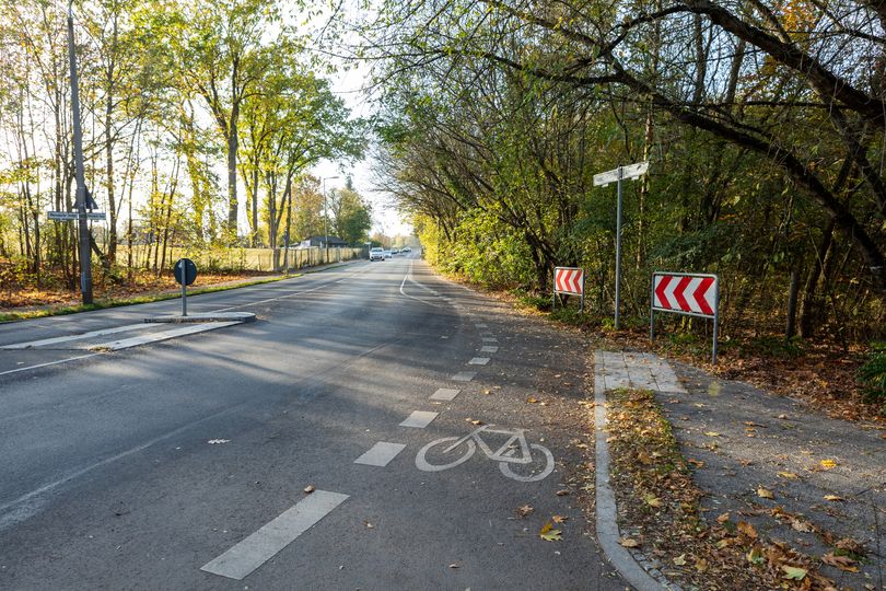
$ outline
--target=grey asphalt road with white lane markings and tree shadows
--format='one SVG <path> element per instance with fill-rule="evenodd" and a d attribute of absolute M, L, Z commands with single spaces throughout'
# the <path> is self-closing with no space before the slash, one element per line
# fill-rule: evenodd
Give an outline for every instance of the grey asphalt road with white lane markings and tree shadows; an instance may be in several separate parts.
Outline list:
<path fill-rule="evenodd" d="M 570 434 L 525 403 L 556 335 L 397 257 L 195 297 L 258 321 L 94 350 L 178 308 L 0 326 L 0 589 L 625 589 Z"/>

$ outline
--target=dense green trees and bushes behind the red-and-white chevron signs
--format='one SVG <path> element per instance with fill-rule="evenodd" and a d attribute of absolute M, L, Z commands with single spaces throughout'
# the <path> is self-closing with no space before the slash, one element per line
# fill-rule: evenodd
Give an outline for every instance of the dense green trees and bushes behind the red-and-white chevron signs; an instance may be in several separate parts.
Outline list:
<path fill-rule="evenodd" d="M 384 2 L 354 24 L 380 186 L 443 271 L 545 308 L 553 267 L 584 268 L 570 322 L 606 332 L 616 192 L 593 176 L 649 161 L 625 186 L 627 333 L 652 271 L 714 273 L 722 371 L 875 414 L 856 372 L 886 336 L 884 23 L 867 0 Z M 662 323 L 703 357 L 707 323 Z"/>

